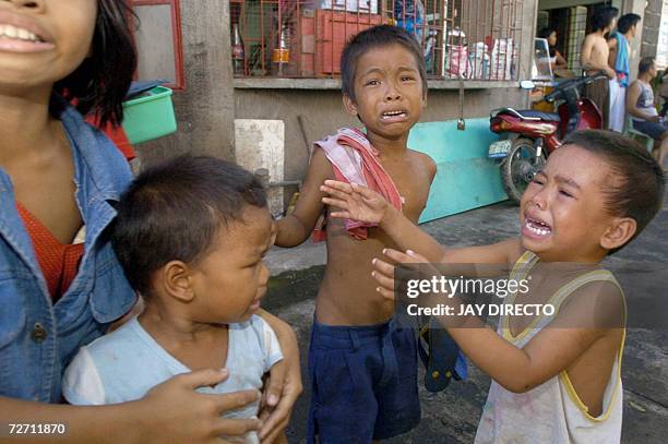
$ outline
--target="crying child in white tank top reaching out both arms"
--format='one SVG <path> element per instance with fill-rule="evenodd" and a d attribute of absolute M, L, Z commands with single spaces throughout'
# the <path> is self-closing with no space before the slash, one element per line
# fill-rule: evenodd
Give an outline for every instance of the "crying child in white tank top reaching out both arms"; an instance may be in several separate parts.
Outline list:
<path fill-rule="evenodd" d="M 329 181 L 323 190 L 331 194 L 325 202 L 342 208 L 333 217 L 378 223 L 406 251 L 374 260 L 379 291 L 389 299 L 394 267 L 385 257 L 514 265 L 514 276 L 534 278 L 542 272 L 528 295 L 516 292 L 505 303 L 547 295 L 554 316 L 502 315 L 498 333 L 477 317 L 440 317 L 492 379 L 476 443 L 620 442 L 625 308 L 600 262 L 642 232 L 665 193 L 664 172 L 637 142 L 608 131 L 570 135 L 522 196 L 521 237 L 491 245 L 444 249 L 366 188 Z M 585 266 L 591 272 L 580 274 Z M 460 312 L 458 298 L 432 298 Z"/>

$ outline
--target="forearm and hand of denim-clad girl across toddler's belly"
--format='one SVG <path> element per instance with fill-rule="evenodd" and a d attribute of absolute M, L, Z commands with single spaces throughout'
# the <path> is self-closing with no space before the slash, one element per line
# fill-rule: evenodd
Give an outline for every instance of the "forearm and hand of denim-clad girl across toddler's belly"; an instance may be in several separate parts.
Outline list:
<path fill-rule="evenodd" d="M 218 435 L 240 436 L 260 428 L 255 419 L 222 419 L 258 399 L 255 391 L 225 395 L 196 393 L 214 385 L 227 372 L 201 370 L 172 377 L 132 403 L 108 406 L 69 406 L 0 397 L 0 442 L 32 443 L 223 443 Z M 16 434 L 11 424 L 64 424 L 63 434 Z M 44 425 L 43 425 L 44 428 Z"/>

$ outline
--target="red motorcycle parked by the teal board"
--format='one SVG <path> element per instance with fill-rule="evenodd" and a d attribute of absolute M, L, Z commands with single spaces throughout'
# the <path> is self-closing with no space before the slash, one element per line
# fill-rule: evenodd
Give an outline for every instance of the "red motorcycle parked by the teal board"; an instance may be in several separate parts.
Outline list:
<path fill-rule="evenodd" d="M 500 160 L 503 189 L 512 201 L 520 202 L 527 184 L 568 134 L 603 128 L 600 110 L 581 97 L 580 88 L 604 77 L 607 75 L 600 72 L 559 83 L 544 97 L 548 103 L 561 101 L 558 113 L 513 108 L 491 111 L 490 130 L 501 134 L 501 140 L 489 146 L 488 157 Z M 535 87 L 530 81 L 521 85 L 525 89 Z"/>

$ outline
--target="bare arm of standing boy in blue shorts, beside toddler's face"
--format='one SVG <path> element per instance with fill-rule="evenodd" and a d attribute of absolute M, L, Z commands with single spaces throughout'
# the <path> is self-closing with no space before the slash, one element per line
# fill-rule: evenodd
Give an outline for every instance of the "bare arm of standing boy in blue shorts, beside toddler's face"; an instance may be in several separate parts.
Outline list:
<path fill-rule="evenodd" d="M 275 244 L 295 247 L 309 238 L 322 214 L 323 193 L 319 190 L 325 179 L 333 179 L 332 165 L 322 149 L 315 149 L 309 164 L 309 171 L 295 205 L 295 211 L 277 223 Z"/>

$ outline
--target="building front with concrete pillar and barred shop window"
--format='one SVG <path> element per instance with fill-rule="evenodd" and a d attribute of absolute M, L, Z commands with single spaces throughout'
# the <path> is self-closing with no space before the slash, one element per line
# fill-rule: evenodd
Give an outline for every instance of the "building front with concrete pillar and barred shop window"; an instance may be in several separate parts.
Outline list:
<path fill-rule="evenodd" d="M 612 4 L 621 13 L 644 15 L 646 1 L 133 3 L 141 20 L 140 77 L 172 81 L 179 123 L 176 134 L 138 147 L 142 163 L 183 152 L 211 154 L 266 168 L 271 181 L 285 182 L 303 178 L 313 141 L 359 124 L 343 109 L 337 68 L 345 40 L 356 32 L 391 23 L 414 33 L 429 73 L 421 121 L 475 119 L 494 108 L 528 105 L 518 85 L 532 75 L 537 27 L 558 25 L 562 52 L 576 70 L 596 8 Z M 642 36 L 633 43 L 634 67 L 641 41 L 645 47 Z"/>

